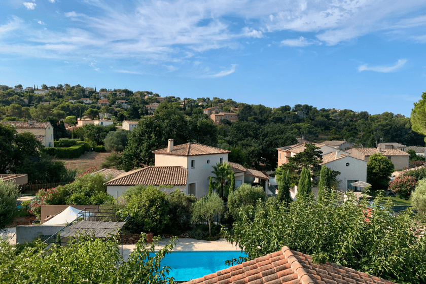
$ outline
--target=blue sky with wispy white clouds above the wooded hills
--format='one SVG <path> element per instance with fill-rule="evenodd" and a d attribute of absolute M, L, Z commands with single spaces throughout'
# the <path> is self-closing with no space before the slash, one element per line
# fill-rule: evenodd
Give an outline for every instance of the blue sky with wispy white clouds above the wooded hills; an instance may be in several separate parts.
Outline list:
<path fill-rule="evenodd" d="M 410 115 L 424 0 L 3 0 L 0 84 Z"/>

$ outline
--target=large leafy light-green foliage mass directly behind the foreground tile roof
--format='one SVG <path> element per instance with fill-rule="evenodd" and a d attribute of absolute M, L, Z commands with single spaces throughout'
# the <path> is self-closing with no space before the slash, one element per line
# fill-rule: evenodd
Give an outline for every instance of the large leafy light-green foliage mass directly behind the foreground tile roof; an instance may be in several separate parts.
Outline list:
<path fill-rule="evenodd" d="M 337 263 L 397 283 L 424 283 L 426 238 L 411 211 L 393 215 L 392 202 L 381 195 L 372 209 L 367 199 L 357 203 L 353 194 L 348 197 L 340 204 L 334 193 L 318 201 L 311 195 L 289 206 L 269 198 L 256 206 L 253 220 L 237 220 L 233 234 L 225 235 L 244 248 L 248 259 L 287 245 L 315 262 Z"/>

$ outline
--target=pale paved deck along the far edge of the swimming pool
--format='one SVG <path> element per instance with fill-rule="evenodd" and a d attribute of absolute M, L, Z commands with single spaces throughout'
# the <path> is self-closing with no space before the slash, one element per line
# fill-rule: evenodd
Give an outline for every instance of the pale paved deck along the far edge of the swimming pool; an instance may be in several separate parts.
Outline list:
<path fill-rule="evenodd" d="M 156 251 L 161 250 L 169 242 L 170 239 L 162 239 L 155 247 Z M 123 244 L 123 259 L 126 261 L 129 254 L 134 250 L 134 244 Z M 176 246 L 173 247 L 172 252 L 197 252 L 197 251 L 241 251 L 239 246 L 229 243 L 225 238 L 220 238 L 215 241 L 196 240 L 192 238 L 178 238 L 176 239 Z M 121 245 L 120 245 L 121 254 Z"/>

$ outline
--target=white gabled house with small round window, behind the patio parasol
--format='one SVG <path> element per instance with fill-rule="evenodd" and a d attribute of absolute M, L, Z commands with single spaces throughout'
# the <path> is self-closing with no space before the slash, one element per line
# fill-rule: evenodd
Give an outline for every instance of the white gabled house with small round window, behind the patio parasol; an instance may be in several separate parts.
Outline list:
<path fill-rule="evenodd" d="M 323 155 L 323 163 L 329 169 L 339 171 L 337 180 L 341 181 L 339 189 L 346 192 L 360 191 L 361 188 L 353 187 L 350 184 L 355 182 L 367 181 L 367 162 L 361 159 L 342 154 L 341 151 Z"/>

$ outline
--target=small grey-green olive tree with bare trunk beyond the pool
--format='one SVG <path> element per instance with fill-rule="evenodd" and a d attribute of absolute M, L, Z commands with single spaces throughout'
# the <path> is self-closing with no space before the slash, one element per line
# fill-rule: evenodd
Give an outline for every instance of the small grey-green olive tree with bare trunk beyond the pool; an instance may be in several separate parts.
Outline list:
<path fill-rule="evenodd" d="M 204 198 L 198 199 L 192 207 L 193 221 L 208 223 L 208 234 L 211 237 L 211 223 L 219 215 L 225 213 L 223 199 L 218 194 L 212 193 Z"/>

